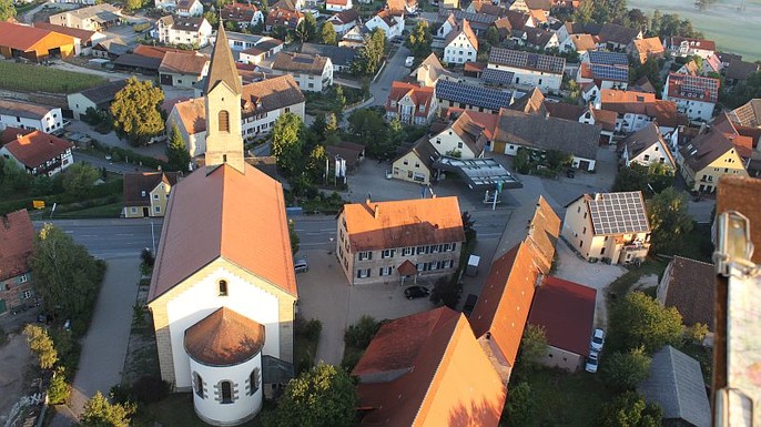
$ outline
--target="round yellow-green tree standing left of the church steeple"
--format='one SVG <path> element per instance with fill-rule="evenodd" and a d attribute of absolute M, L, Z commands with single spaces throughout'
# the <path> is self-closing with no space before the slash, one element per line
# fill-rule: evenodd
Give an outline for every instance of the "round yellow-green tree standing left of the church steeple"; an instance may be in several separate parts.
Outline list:
<path fill-rule="evenodd" d="M 151 136 L 164 131 L 159 104 L 164 100 L 161 88 L 150 80 L 132 77 L 111 102 L 111 115 L 116 133 L 126 136 L 133 145 L 144 145 Z"/>

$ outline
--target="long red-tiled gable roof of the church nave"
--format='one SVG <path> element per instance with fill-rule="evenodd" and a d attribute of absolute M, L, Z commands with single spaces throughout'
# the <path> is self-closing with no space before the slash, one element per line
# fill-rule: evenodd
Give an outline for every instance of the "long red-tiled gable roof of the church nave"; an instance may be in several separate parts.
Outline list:
<path fill-rule="evenodd" d="M 202 167 L 175 185 L 149 301 L 216 258 L 297 295 L 283 187 L 254 166 L 246 164 L 244 172 L 226 164 L 211 172 Z"/>

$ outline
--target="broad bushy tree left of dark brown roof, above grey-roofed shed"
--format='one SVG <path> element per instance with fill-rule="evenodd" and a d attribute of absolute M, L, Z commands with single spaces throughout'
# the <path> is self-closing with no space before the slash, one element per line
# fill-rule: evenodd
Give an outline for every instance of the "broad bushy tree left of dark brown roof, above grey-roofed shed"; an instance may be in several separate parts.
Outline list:
<path fill-rule="evenodd" d="M 663 307 L 641 293 L 628 294 L 612 311 L 609 346 L 626 352 L 642 346 L 648 354 L 682 339 L 682 316 L 674 307 Z"/>

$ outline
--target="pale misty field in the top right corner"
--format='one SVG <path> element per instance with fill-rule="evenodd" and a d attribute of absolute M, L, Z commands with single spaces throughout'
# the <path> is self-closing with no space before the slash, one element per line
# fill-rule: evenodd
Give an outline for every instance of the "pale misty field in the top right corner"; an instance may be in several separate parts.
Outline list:
<path fill-rule="evenodd" d="M 627 6 L 648 14 L 656 9 L 677 13 L 692 21 L 707 39 L 714 40 L 718 50 L 740 53 L 745 61 L 761 59 L 761 0 L 717 0 L 706 11 L 696 8 L 692 0 L 629 0 Z"/>

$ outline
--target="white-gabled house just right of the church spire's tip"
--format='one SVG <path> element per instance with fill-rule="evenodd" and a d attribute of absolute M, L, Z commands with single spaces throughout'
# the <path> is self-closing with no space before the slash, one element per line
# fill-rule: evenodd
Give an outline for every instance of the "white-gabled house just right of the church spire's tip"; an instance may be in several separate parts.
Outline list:
<path fill-rule="evenodd" d="M 280 52 L 272 63 L 275 74 L 292 74 L 303 91 L 322 92 L 333 85 L 333 61 L 305 53 Z"/>

